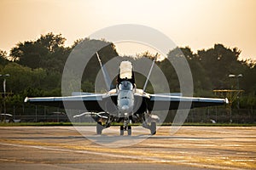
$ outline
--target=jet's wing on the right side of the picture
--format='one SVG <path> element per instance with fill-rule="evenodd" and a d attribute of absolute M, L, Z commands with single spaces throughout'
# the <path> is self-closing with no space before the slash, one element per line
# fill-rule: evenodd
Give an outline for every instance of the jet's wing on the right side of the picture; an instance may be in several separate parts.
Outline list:
<path fill-rule="evenodd" d="M 167 94 L 149 94 L 149 98 L 147 99 L 148 111 L 189 109 L 195 107 L 225 105 L 227 103 L 228 99 L 195 98 Z"/>

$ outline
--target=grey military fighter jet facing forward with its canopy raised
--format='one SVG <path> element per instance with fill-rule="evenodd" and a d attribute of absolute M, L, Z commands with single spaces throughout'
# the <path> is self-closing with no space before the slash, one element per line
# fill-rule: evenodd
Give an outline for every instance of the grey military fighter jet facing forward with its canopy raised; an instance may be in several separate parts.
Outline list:
<path fill-rule="evenodd" d="M 104 69 L 104 65 L 102 65 L 97 53 L 96 56 L 102 67 L 105 82 L 109 83 L 107 71 Z M 151 74 L 153 65 L 154 62 L 148 77 Z M 87 112 L 79 116 L 90 115 L 97 122 L 97 134 L 102 134 L 102 130 L 110 127 L 112 122 L 119 122 L 122 124 L 120 126 L 120 135 L 124 135 L 125 131 L 127 131 L 128 135 L 131 135 L 131 124 L 135 122 L 142 123 L 143 127 L 149 129 L 150 133 L 154 135 L 156 133 L 156 122 L 159 117 L 153 115 L 152 111 L 170 111 L 177 110 L 178 108 L 190 109 L 228 103 L 227 99 L 183 97 L 172 94 L 148 94 L 145 92 L 148 77 L 143 89 L 137 88 L 131 61 L 123 60 L 119 64 L 116 87 L 105 94 L 73 93 L 72 96 L 65 97 L 26 97 L 25 102 L 37 105 L 65 106 L 66 109 L 78 110 L 82 109 L 78 105 L 82 102 Z M 181 103 L 185 105 L 179 107 Z"/>

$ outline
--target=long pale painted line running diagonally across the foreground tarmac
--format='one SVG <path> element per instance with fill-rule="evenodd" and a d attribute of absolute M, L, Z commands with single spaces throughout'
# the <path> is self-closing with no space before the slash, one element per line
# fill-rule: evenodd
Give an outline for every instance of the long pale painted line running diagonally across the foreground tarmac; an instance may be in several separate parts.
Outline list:
<path fill-rule="evenodd" d="M 69 150 L 69 149 L 61 149 L 61 148 L 55 148 L 55 147 L 50 147 L 50 146 L 40 146 L 40 145 L 6 144 L 6 143 L 0 143 L 0 144 L 14 146 L 14 147 L 33 148 L 33 149 L 38 149 L 38 150 L 54 150 L 54 151 L 63 151 L 63 152 L 91 154 L 91 155 L 97 155 L 97 156 L 109 156 L 109 157 L 117 157 L 117 158 L 124 158 L 124 159 L 133 159 L 133 160 L 139 160 L 139 161 L 151 161 L 151 163 L 176 163 L 177 165 L 182 164 L 182 165 L 186 165 L 186 166 L 195 166 L 195 167 L 242 170 L 241 168 L 236 168 L 236 167 L 222 167 L 222 166 L 217 166 L 217 165 L 207 165 L 207 164 L 195 163 L 195 162 L 186 161 L 186 160 L 173 160 L 172 161 L 172 160 L 160 159 L 160 158 L 156 158 L 156 157 L 125 156 L 125 155 L 117 155 L 117 154 L 96 152 L 96 151 L 89 151 L 89 150 Z"/>

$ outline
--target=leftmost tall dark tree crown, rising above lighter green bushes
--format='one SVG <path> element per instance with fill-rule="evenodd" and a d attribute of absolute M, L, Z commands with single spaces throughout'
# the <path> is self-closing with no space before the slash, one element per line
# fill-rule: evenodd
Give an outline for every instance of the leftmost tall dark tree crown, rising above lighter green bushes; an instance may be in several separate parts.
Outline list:
<path fill-rule="evenodd" d="M 71 51 L 71 48 L 64 47 L 65 41 L 61 34 L 50 32 L 36 41 L 19 42 L 11 49 L 10 55 L 20 65 L 61 72 Z"/>

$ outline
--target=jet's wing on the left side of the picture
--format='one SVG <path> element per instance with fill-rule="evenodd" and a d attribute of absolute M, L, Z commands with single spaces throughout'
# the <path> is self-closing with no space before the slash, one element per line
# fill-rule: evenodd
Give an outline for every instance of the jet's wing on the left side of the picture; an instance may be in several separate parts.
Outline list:
<path fill-rule="evenodd" d="M 106 104 L 108 99 L 115 98 L 115 94 L 88 94 L 66 97 L 42 97 L 42 98 L 26 98 L 24 102 L 35 105 L 49 105 L 66 109 L 86 110 L 100 112 L 102 105 Z M 84 107 L 85 105 L 85 107 Z"/>

